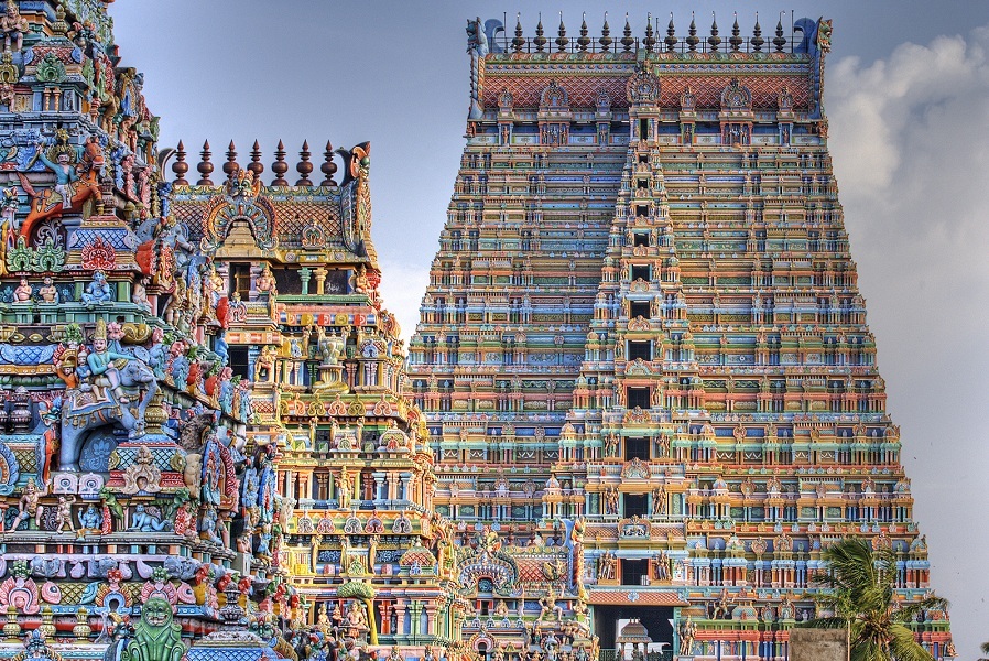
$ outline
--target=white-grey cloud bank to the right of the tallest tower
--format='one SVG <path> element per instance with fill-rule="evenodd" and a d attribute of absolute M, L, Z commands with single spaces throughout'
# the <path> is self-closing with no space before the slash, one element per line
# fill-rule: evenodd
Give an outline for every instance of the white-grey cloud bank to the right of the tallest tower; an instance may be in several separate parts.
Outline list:
<path fill-rule="evenodd" d="M 985 638 L 989 546 L 989 26 L 829 63 L 830 151 L 932 584 L 963 657 Z"/>

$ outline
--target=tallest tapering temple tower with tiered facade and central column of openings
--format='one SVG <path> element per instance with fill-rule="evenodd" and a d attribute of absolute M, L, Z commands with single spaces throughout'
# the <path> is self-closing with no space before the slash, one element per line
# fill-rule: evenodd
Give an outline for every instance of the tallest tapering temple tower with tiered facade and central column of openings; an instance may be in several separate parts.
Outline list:
<path fill-rule="evenodd" d="M 899 554 L 902 604 L 926 595 L 827 150 L 830 23 L 467 31 L 409 359 L 467 644 L 787 658 L 847 535 Z M 915 633 L 953 654 L 946 613 Z"/>

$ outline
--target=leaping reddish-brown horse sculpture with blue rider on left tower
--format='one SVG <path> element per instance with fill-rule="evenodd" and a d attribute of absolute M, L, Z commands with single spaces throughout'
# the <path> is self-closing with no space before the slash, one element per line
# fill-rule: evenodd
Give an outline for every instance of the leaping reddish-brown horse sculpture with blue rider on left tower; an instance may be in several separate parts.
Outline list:
<path fill-rule="evenodd" d="M 63 147 L 62 154 L 66 154 L 65 149 L 70 149 L 67 145 L 61 147 Z M 45 159 L 45 164 L 48 169 L 55 171 L 56 182 L 58 182 L 57 187 L 62 188 L 62 191 L 57 191 L 55 187 L 40 192 L 35 191 L 24 173 L 18 172 L 21 186 L 31 196 L 31 212 L 21 225 L 21 236 L 30 240 L 31 230 L 41 220 L 57 218 L 66 212 L 79 213 L 88 201 L 99 199 L 102 193 L 100 192 L 98 175 L 105 162 L 99 140 L 89 138 L 83 145 L 83 154 L 79 163 L 75 165 L 75 171 L 65 167 L 68 165 L 67 162 L 50 164 L 47 159 Z M 59 172 L 53 165 L 65 167 L 65 171 Z M 63 180 L 65 181 L 63 182 Z M 66 197 L 68 198 L 67 202 Z"/>

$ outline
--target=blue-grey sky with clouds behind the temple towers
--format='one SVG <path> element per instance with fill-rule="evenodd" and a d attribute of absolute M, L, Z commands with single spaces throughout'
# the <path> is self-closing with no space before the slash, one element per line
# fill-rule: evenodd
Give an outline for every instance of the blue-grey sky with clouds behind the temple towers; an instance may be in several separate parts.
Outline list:
<path fill-rule="evenodd" d="M 241 163 L 254 139 L 270 173 L 285 141 L 351 147 L 370 140 L 373 240 L 387 306 L 411 335 L 464 148 L 467 18 L 558 12 L 591 34 L 624 12 L 680 26 L 732 12 L 748 34 L 791 10 L 834 20 L 825 73 L 829 147 L 859 285 L 877 336 L 889 410 L 901 426 L 915 519 L 927 534 L 932 584 L 952 604 L 960 659 L 989 641 L 989 1 L 794 2 L 774 6 L 514 0 L 118 0 L 122 64 L 145 73 L 162 145 L 180 139 L 214 163 L 232 139 Z M 188 161 L 195 167 L 197 158 Z M 320 160 L 314 159 L 317 164 Z M 191 173 L 192 174 L 192 173 Z M 291 173 L 290 173 L 291 174 Z M 317 172 L 318 174 L 318 172 Z"/>

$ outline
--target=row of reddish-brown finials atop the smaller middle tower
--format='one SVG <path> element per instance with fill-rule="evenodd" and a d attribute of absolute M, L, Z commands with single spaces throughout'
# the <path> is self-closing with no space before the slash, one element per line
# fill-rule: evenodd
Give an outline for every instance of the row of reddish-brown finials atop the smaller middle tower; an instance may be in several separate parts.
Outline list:
<path fill-rule="evenodd" d="M 272 180 L 272 186 L 291 186 L 289 180 L 285 178 L 285 173 L 289 172 L 289 163 L 285 162 L 285 145 L 279 140 L 279 145 L 274 152 L 274 162 L 271 164 L 271 171 L 274 173 L 274 180 Z M 327 140 L 326 141 L 326 151 L 323 152 L 324 162 L 319 166 L 319 171 L 323 173 L 323 181 L 319 182 L 320 186 L 336 186 L 337 182 L 333 178 L 333 175 L 337 171 L 337 164 L 333 162 L 333 144 Z M 196 165 L 196 171 L 199 173 L 199 181 L 196 182 L 197 186 L 213 186 L 213 180 L 209 176 L 213 174 L 215 166 L 210 161 L 213 156 L 213 152 L 209 150 L 209 141 L 203 143 L 203 151 L 199 152 L 199 164 Z M 237 148 L 233 144 L 233 141 L 230 141 L 230 145 L 227 148 L 226 152 L 227 162 L 222 164 L 220 170 L 224 172 L 226 178 L 232 177 L 240 171 L 240 165 L 237 163 Z M 189 171 L 189 164 L 185 162 L 186 151 L 185 145 L 182 141 L 178 141 L 178 149 L 175 150 L 175 162 L 172 163 L 172 172 L 175 173 L 175 181 L 173 182 L 176 186 L 187 186 L 189 182 L 185 178 L 186 173 Z M 302 151 L 298 152 L 300 161 L 295 164 L 295 171 L 298 173 L 300 178 L 295 182 L 296 186 L 315 186 L 316 184 L 309 178 L 309 175 L 313 173 L 313 163 L 309 162 L 312 158 L 312 152 L 309 152 L 309 142 L 308 140 L 302 143 Z M 264 164 L 261 163 L 261 145 L 258 144 L 258 141 L 254 140 L 254 145 L 251 148 L 251 162 L 247 164 L 247 170 L 253 173 L 254 178 L 261 176 L 261 173 L 264 172 Z"/>

